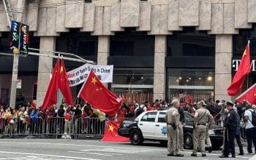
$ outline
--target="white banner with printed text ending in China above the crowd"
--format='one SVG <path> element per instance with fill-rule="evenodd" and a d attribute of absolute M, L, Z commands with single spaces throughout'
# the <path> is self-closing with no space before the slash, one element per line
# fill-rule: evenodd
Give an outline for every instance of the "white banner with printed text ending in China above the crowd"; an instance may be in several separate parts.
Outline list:
<path fill-rule="evenodd" d="M 113 65 L 91 65 L 86 63 L 79 68 L 67 72 L 69 86 L 73 87 L 82 84 L 83 81 L 87 80 L 91 70 L 94 71 L 102 83 L 113 81 Z"/>

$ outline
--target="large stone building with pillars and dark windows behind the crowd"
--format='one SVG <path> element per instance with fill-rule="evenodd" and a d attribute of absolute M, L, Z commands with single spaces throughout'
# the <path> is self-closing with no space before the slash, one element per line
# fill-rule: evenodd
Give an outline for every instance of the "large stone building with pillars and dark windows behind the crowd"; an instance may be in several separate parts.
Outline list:
<path fill-rule="evenodd" d="M 19 14 L 29 25 L 29 47 L 114 65 L 108 87 L 116 94 L 151 101 L 177 96 L 231 100 L 227 87 L 247 39 L 252 56 L 248 85 L 256 82 L 255 0 L 9 1 L 14 19 Z M 0 52 L 10 52 L 2 1 L 0 17 Z M 10 100 L 12 61 L 0 55 L 0 103 Z M 53 63 L 50 57 L 20 57 L 17 92 L 41 105 Z M 83 63 L 65 65 L 70 71 Z M 75 98 L 80 86 L 71 89 Z"/>

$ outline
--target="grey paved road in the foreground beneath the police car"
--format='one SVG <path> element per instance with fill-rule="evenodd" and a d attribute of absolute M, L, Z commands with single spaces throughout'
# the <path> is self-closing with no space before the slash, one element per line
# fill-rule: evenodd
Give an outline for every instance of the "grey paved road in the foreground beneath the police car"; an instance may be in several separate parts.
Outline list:
<path fill-rule="evenodd" d="M 238 149 L 238 148 L 236 148 Z M 246 148 L 244 148 L 246 151 Z M 42 140 L 42 139 L 1 139 L 0 160 L 121 160 L 121 159 L 195 159 L 191 151 L 184 151 L 184 157 L 167 157 L 167 150 L 158 143 L 141 146 L 129 143 L 104 143 L 99 140 Z M 197 160 L 218 160 L 221 150 L 208 153 L 207 157 L 197 155 Z M 236 160 L 246 160 L 254 155 L 237 156 Z M 252 158 L 255 160 L 256 156 Z M 229 160 L 235 160 L 229 158 Z"/>

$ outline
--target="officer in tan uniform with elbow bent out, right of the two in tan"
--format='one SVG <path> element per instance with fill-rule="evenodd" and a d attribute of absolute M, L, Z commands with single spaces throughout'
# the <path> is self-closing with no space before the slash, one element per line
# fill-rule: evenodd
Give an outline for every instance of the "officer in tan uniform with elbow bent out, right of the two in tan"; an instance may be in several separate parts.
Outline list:
<path fill-rule="evenodd" d="M 201 100 L 197 103 L 197 111 L 195 111 L 194 129 L 193 129 L 193 153 L 191 156 L 197 156 L 197 147 L 201 151 L 202 156 L 206 156 L 205 142 L 206 142 L 206 128 L 211 126 L 214 117 L 211 113 L 203 107 L 204 102 Z"/>

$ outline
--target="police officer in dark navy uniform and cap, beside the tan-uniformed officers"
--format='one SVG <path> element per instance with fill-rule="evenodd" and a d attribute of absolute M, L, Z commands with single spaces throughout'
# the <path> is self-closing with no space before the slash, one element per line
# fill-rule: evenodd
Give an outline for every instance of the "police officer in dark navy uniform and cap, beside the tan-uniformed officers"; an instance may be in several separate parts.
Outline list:
<path fill-rule="evenodd" d="M 225 127 L 225 141 L 224 141 L 224 151 L 219 158 L 228 158 L 228 155 L 231 151 L 232 157 L 236 158 L 235 153 L 235 136 L 236 136 L 236 127 L 237 127 L 237 117 L 236 111 L 233 109 L 233 102 L 227 102 L 227 116 L 224 121 Z"/>

